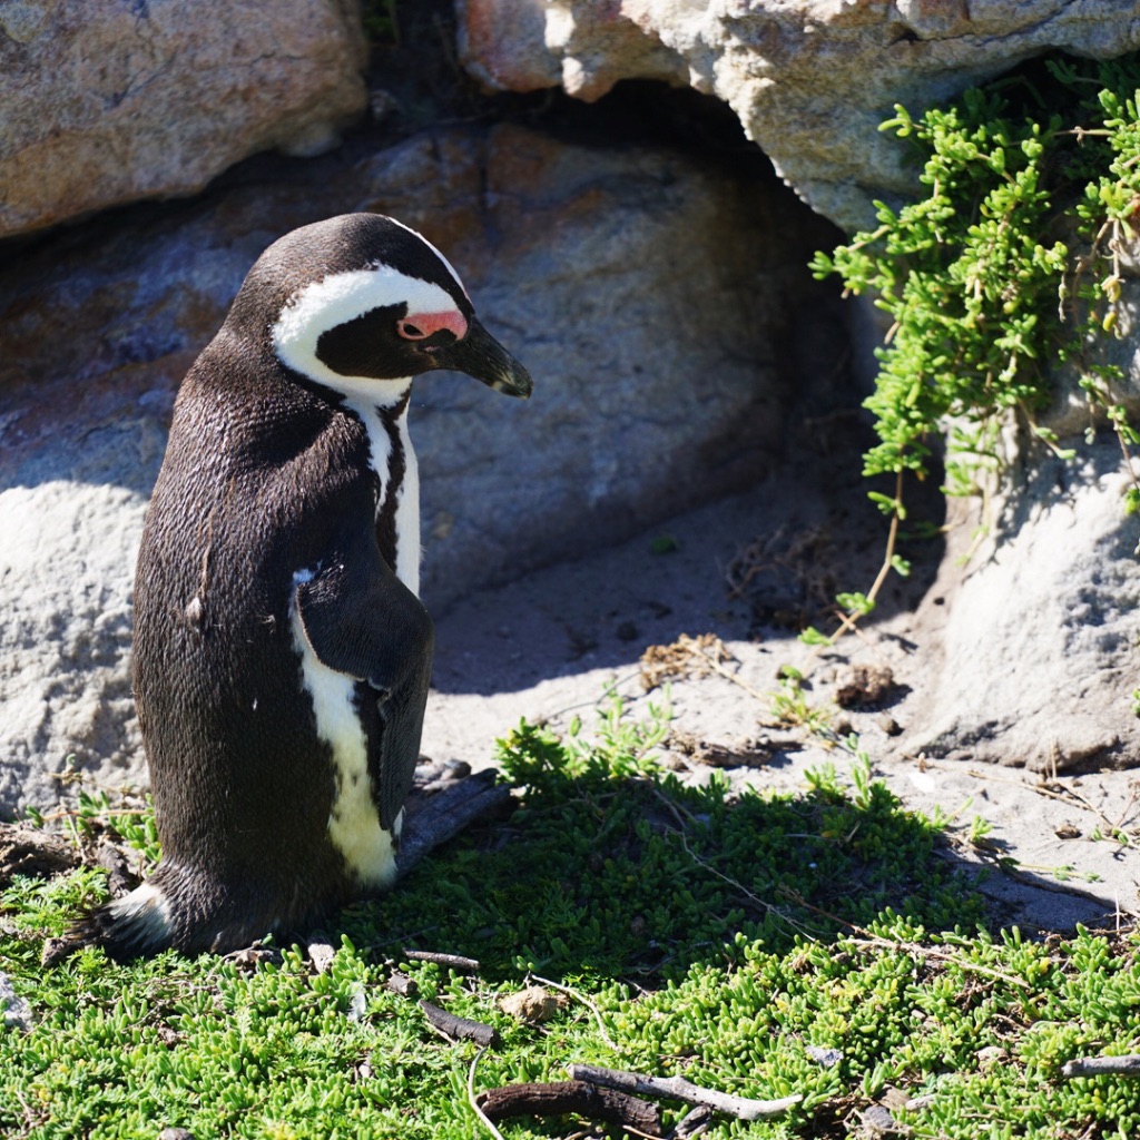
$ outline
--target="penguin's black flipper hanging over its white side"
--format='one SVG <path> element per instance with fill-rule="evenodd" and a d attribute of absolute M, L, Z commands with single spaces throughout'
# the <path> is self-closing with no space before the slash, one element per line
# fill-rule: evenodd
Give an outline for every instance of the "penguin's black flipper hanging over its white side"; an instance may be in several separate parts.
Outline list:
<path fill-rule="evenodd" d="M 366 682 L 376 693 L 369 768 L 381 824 L 389 829 L 420 758 L 434 645 L 431 617 L 375 543 L 342 546 L 315 573 L 299 578 L 296 614 L 321 665 Z M 366 723 L 368 711 L 360 710 Z"/>

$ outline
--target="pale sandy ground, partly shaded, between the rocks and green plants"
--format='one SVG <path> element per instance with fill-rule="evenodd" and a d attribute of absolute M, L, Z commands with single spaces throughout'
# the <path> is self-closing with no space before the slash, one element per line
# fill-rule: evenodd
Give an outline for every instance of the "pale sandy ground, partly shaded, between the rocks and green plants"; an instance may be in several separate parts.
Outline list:
<path fill-rule="evenodd" d="M 853 532 L 874 540 L 847 554 Z M 671 548 L 661 553 L 662 545 Z M 562 728 L 578 715 L 588 726 L 611 691 L 630 715 L 644 715 L 646 702 L 663 697 L 660 689 L 646 694 L 642 684 L 645 649 L 712 634 L 732 654 L 723 666 L 731 679 L 711 674 L 671 682 L 674 734 L 665 762 L 685 779 L 703 780 L 711 759 L 734 782 L 793 790 L 805 787 L 805 769 L 830 762 L 846 774 L 850 762 L 845 750 L 773 723 L 780 667 L 807 671 L 808 702 L 828 707 L 848 661 L 888 665 L 894 693 L 870 708 L 836 710 L 832 723 L 846 718 L 860 733 L 876 775 L 906 806 L 954 817 L 944 854 L 979 872 L 997 920 L 1064 930 L 1076 922 L 1114 926 L 1140 911 L 1140 854 L 1112 838 L 1116 830 L 1140 841 L 1134 773 L 1045 779 L 1013 766 L 915 755 L 909 741 L 920 726 L 911 722 L 928 708 L 923 697 L 937 668 L 931 635 L 913 619 L 929 567 L 926 573 L 917 567 L 911 593 L 894 598 L 893 613 L 845 638 L 838 652 L 812 656 L 780 627 L 787 609 L 811 610 L 814 596 L 832 587 L 829 564 L 845 585 L 853 572 L 869 585 L 880 552 L 881 535 L 858 508 L 837 507 L 833 491 L 797 483 L 792 495 L 787 483 L 767 483 L 622 546 L 469 597 L 437 616 L 423 750 L 435 760 L 486 767 L 495 739 L 521 717 Z M 730 580 L 744 571 L 751 580 L 733 596 Z M 833 621 L 821 627 L 830 630 Z M 977 819 L 990 825 L 980 845 L 970 841 Z M 994 869 L 997 856 L 1016 860 L 1017 870 Z"/>

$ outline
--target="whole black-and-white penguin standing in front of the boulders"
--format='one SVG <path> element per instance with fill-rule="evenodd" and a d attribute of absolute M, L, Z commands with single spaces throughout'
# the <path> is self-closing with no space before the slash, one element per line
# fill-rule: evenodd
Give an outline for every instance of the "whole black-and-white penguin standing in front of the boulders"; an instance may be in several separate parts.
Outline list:
<path fill-rule="evenodd" d="M 433 627 L 415 376 L 532 382 L 392 218 L 270 245 L 174 402 L 135 578 L 133 689 L 162 860 L 81 923 L 125 960 L 298 931 L 396 877 Z"/>

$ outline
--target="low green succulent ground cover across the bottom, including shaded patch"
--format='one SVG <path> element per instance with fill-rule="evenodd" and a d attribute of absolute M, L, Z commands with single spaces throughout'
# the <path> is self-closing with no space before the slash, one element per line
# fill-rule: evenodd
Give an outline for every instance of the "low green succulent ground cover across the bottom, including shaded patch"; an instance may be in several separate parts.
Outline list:
<path fill-rule="evenodd" d="M 33 1025 L 0 1035 L 0 1133 L 488 1135 L 467 1104 L 475 1047 L 443 1041 L 384 988 L 394 962 L 420 996 L 498 1028 L 480 1089 L 561 1080 L 578 1061 L 804 1094 L 782 1121 L 720 1118 L 710 1137 L 845 1135 L 885 1099 L 914 1135 L 1137 1134 L 1140 1084 L 1059 1076 L 1074 1056 L 1140 1043 L 1132 936 L 990 933 L 937 828 L 865 774 L 730 797 L 657 772 L 657 735 L 617 712 L 589 742 L 521 726 L 502 756 L 520 809 L 344 912 L 324 974 L 294 948 L 255 968 L 177 954 L 115 966 L 88 950 L 43 969 L 43 937 L 100 897 L 103 873 L 14 881 L 0 966 Z M 481 970 L 405 962 L 405 947 Z M 588 997 L 606 1032 L 577 1000 L 540 1027 L 512 1020 L 497 1001 L 528 971 Z"/>

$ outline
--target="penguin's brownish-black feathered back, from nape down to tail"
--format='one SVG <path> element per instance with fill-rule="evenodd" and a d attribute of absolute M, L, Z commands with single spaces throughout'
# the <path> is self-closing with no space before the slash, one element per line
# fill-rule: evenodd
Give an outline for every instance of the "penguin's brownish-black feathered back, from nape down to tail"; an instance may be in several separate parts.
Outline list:
<path fill-rule="evenodd" d="M 367 437 L 251 348 L 223 329 L 184 381 L 136 575 L 135 694 L 164 845 L 153 881 L 193 896 L 194 931 L 174 936 L 187 951 L 247 944 L 352 893 L 328 840 L 332 751 L 302 691 L 291 605 L 298 570 L 341 532 L 375 528 Z M 407 601 L 430 648 L 430 618 Z M 375 693 L 358 689 L 382 731 Z"/>

